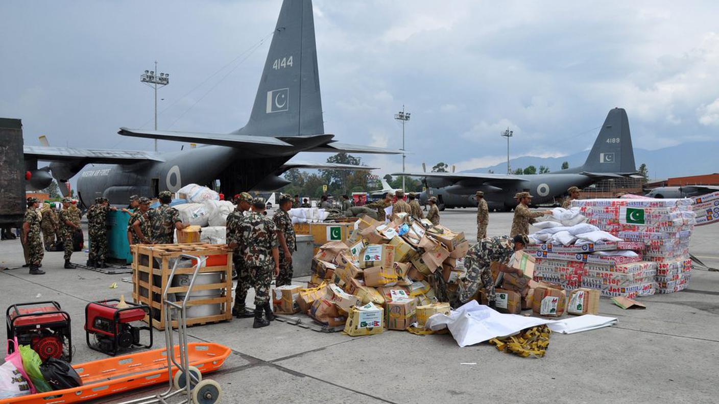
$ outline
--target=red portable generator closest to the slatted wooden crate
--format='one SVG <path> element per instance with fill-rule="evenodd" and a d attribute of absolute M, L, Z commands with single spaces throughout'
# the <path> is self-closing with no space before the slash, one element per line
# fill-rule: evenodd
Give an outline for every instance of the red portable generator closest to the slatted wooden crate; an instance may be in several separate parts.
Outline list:
<path fill-rule="evenodd" d="M 85 336 L 88 346 L 98 352 L 115 356 L 119 352 L 130 352 L 152 347 L 152 328 L 132 325 L 150 314 L 150 306 L 126 303 L 127 308 L 117 308 L 120 300 L 101 300 L 85 306 Z M 140 343 L 140 331 L 150 331 L 150 344 Z M 90 335 L 96 341 L 90 341 Z"/>

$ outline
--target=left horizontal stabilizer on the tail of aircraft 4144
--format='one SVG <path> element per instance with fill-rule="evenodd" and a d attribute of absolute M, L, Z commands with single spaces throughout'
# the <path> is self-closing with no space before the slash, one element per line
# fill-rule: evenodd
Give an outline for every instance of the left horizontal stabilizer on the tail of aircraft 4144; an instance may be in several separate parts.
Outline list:
<path fill-rule="evenodd" d="M 218 134 L 203 132 L 143 131 L 121 127 L 118 134 L 130 137 L 147 137 L 149 139 L 175 140 L 177 142 L 193 142 L 200 144 L 216 144 L 218 146 L 240 147 L 246 144 L 265 144 L 271 146 L 293 147 L 271 136 L 249 136 L 243 134 Z"/>

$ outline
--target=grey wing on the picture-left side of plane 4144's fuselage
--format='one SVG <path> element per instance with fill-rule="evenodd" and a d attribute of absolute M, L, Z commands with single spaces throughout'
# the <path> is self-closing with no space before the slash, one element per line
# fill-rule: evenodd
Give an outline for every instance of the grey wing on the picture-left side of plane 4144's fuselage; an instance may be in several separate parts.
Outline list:
<path fill-rule="evenodd" d="M 137 150 L 78 149 L 75 147 L 28 146 L 23 149 L 25 158 L 57 162 L 122 163 L 139 161 L 165 161 L 155 152 Z"/>

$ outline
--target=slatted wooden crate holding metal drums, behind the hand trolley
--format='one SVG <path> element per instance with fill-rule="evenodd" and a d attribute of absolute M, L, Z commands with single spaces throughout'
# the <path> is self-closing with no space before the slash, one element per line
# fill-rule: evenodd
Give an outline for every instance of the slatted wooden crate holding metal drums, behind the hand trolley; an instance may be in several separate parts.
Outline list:
<path fill-rule="evenodd" d="M 214 316 L 188 318 L 187 325 L 232 320 L 232 250 L 224 244 L 186 243 L 186 244 L 136 244 L 132 246 L 132 298 L 135 303 L 145 303 L 152 308 L 155 316 L 145 316 L 145 322 L 155 329 L 165 329 L 165 306 L 162 304 L 162 291 L 168 284 L 172 271 L 170 260 L 180 254 L 206 257 L 206 264 L 199 273 L 221 272 L 221 282 L 207 285 L 195 285 L 197 290 L 221 290 L 219 298 L 189 298 L 186 307 L 204 304 L 219 304 L 221 313 Z M 154 263 L 154 265 L 153 265 Z M 191 275 L 194 267 L 178 268 L 175 275 Z M 170 287 L 168 293 L 188 293 L 188 286 Z M 179 302 L 178 302 L 179 303 Z M 157 314 L 159 313 L 159 319 Z M 173 320 L 173 328 L 178 322 Z"/>

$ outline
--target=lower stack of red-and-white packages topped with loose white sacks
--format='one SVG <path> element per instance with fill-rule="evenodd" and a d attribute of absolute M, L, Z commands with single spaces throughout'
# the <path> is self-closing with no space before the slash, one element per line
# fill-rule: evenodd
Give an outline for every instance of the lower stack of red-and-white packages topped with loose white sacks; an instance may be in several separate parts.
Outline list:
<path fill-rule="evenodd" d="M 564 289 L 592 288 L 605 296 L 654 294 L 656 263 L 641 258 L 644 244 L 625 242 L 602 226 L 587 223 L 579 207 L 555 208 L 534 225 L 527 252 L 536 256 L 534 280 Z"/>

